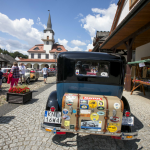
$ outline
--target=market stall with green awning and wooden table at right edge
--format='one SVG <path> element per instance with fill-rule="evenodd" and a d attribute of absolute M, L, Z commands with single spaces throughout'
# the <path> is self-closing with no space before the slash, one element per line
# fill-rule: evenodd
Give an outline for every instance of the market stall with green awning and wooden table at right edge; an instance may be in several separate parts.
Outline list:
<path fill-rule="evenodd" d="M 138 87 L 145 95 L 144 85 L 150 85 L 150 59 L 128 62 L 128 64 L 132 65 L 132 74 L 134 74 L 131 95 Z"/>

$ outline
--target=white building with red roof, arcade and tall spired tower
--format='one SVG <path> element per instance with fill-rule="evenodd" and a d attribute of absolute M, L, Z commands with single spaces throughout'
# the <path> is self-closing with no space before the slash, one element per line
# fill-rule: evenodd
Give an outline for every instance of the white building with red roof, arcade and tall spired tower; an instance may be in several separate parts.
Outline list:
<path fill-rule="evenodd" d="M 54 31 L 52 30 L 51 17 L 49 14 L 47 28 L 44 30 L 42 41 L 44 44 L 36 44 L 28 52 L 28 59 L 16 58 L 19 63 L 24 63 L 27 68 L 42 69 L 45 65 L 49 68 L 57 66 L 56 56 L 67 50 L 63 45 L 55 43 Z"/>

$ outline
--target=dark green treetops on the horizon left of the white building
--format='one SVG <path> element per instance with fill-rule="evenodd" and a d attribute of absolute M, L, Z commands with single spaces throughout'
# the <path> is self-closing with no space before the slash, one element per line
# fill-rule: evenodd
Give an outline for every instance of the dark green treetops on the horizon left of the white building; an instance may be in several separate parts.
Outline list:
<path fill-rule="evenodd" d="M 22 57 L 22 58 L 25 58 L 25 59 L 28 58 L 28 55 L 24 55 L 24 54 L 22 54 L 22 53 L 20 53 L 18 51 L 16 51 L 16 52 L 8 52 L 7 50 L 0 48 L 0 53 L 10 55 L 13 58 L 16 58 L 16 57 Z"/>

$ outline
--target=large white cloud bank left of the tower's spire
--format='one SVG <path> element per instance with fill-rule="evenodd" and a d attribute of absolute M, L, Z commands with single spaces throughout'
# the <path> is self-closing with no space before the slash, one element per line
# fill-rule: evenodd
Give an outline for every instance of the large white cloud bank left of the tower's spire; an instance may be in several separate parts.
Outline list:
<path fill-rule="evenodd" d="M 33 27 L 32 19 L 15 19 L 11 20 L 5 14 L 0 13 L 0 31 L 8 33 L 19 40 L 23 40 L 31 47 L 35 44 L 42 43 L 42 32 Z"/>

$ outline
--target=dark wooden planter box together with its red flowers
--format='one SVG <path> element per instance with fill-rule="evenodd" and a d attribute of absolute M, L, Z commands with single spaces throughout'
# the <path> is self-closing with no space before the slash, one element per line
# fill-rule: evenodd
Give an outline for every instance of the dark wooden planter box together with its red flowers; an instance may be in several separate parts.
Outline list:
<path fill-rule="evenodd" d="M 8 103 L 20 103 L 24 104 L 25 102 L 32 99 L 32 91 L 27 86 L 17 86 L 9 89 L 7 93 L 7 102 Z"/>

